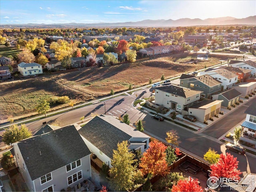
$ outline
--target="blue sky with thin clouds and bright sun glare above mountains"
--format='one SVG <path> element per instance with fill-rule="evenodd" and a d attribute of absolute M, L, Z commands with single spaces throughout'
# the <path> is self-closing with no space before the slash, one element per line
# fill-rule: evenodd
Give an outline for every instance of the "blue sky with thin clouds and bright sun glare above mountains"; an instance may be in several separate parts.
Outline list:
<path fill-rule="evenodd" d="M 0 24 L 246 18 L 256 0 L 0 0 Z"/>

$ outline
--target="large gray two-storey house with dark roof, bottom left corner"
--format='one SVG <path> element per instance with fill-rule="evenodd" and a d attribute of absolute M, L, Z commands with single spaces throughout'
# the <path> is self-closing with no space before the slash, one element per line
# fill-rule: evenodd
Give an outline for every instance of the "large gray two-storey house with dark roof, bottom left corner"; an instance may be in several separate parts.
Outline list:
<path fill-rule="evenodd" d="M 91 177 L 90 150 L 74 126 L 12 144 L 30 191 L 62 191 Z"/>

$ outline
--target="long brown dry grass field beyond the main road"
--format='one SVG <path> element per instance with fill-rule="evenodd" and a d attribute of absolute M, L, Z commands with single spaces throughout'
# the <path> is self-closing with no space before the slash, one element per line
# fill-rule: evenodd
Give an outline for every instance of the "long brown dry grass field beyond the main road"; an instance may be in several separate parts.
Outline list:
<path fill-rule="evenodd" d="M 235 59 L 236 56 L 212 55 L 208 61 L 197 64 L 197 54 L 183 53 L 159 57 L 153 60 L 121 64 L 111 67 L 94 68 L 56 75 L 44 75 L 27 80 L 18 80 L 0 84 L 0 123 L 9 115 L 15 118 L 36 114 L 35 107 L 52 96 L 69 96 L 76 103 L 85 102 L 115 92 L 160 81 L 162 74 L 171 78 L 182 73 L 192 72 L 220 63 L 220 60 Z M 51 106 L 51 110 L 68 106 Z"/>

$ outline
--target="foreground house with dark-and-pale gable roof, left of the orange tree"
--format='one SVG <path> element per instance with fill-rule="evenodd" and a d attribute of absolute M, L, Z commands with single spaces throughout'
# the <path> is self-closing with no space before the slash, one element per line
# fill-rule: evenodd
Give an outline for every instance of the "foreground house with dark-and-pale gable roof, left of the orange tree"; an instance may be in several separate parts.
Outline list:
<path fill-rule="evenodd" d="M 112 167 L 113 150 L 117 150 L 118 143 L 127 140 L 130 150 L 140 150 L 143 153 L 148 149 L 150 138 L 111 115 L 94 117 L 78 132 L 90 151 L 109 167 Z"/>

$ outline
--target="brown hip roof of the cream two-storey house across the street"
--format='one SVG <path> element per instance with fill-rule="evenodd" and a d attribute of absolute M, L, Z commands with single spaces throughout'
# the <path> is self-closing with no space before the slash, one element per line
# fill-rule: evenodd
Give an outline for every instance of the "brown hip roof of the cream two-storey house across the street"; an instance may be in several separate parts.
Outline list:
<path fill-rule="evenodd" d="M 194 96 L 196 94 L 202 93 L 202 91 L 191 90 L 184 87 L 174 86 L 174 85 L 167 85 L 167 86 L 159 86 L 155 88 L 156 90 L 161 90 L 167 93 L 171 93 L 174 95 L 178 95 L 184 98 L 188 98 Z"/>

